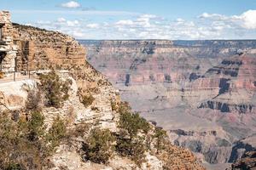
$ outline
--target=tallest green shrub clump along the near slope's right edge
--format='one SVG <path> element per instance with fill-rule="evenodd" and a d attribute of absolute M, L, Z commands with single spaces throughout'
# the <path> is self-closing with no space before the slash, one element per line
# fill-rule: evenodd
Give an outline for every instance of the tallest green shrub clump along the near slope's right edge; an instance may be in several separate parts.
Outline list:
<path fill-rule="evenodd" d="M 144 152 L 148 150 L 145 134 L 150 130 L 148 122 L 138 113 L 133 113 L 127 103 L 119 104 L 119 128 L 116 150 L 121 156 L 129 156 L 138 165 L 144 160 Z"/>

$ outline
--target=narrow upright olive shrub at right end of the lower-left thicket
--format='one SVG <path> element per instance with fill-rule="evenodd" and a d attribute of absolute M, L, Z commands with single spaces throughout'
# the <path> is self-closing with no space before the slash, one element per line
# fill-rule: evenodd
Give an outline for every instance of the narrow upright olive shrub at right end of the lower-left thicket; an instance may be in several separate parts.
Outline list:
<path fill-rule="evenodd" d="M 66 135 L 67 127 L 60 116 L 57 116 L 47 134 L 47 139 L 50 142 L 49 150 L 54 150 L 55 147 L 61 143 L 61 139 L 64 139 Z"/>

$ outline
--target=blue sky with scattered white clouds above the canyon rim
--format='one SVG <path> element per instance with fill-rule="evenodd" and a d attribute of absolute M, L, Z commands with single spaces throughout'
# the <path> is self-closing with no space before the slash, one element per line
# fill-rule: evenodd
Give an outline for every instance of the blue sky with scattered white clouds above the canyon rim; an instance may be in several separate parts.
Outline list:
<path fill-rule="evenodd" d="M 17 23 L 79 39 L 256 39 L 256 0 L 0 0 Z"/>

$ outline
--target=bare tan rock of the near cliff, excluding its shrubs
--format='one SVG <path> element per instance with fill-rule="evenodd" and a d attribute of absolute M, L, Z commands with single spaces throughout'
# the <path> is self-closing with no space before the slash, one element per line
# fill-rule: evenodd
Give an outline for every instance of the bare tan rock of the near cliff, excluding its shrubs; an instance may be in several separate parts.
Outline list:
<path fill-rule="evenodd" d="M 15 26 L 15 43 L 18 45 L 17 64 L 20 71 L 33 71 L 32 76 L 47 74 L 49 68 L 55 68 L 63 80 L 71 82 L 69 98 L 56 109 L 44 107 L 42 113 L 47 129 L 52 127 L 54 119 L 60 116 L 68 120 L 67 129 L 72 130 L 79 125 L 90 123 L 95 127 L 119 131 L 117 126 L 119 113 L 113 111 L 111 101 L 119 102 L 119 91 L 114 89 L 101 73 L 85 61 L 84 48 L 72 37 L 54 31 L 45 31 L 28 26 Z M 28 68 L 28 69 L 27 69 Z M 58 70 L 61 69 L 61 70 Z M 24 87 L 33 87 L 37 79 L 1 82 L 0 111 L 24 111 L 27 94 Z M 85 107 L 78 92 L 90 94 L 94 101 Z M 152 125 L 153 126 L 153 125 Z M 92 127 L 91 127 L 92 128 Z M 145 153 L 145 161 L 141 167 L 129 158 L 115 154 L 108 165 L 82 161 L 79 150 L 81 138 L 72 138 L 61 144 L 48 161 L 50 166 L 43 169 L 204 169 L 189 151 L 168 144 L 168 150 L 160 154 Z"/>

